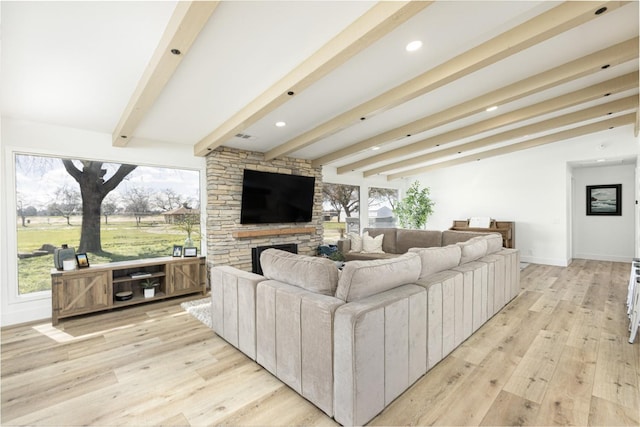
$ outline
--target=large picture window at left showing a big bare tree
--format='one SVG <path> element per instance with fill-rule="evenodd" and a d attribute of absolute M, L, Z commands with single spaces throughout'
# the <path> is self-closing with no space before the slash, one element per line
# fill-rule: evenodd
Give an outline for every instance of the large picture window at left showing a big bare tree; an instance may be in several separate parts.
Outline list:
<path fill-rule="evenodd" d="M 20 294 L 49 290 L 54 248 L 92 265 L 200 247 L 199 172 L 18 154 Z"/>

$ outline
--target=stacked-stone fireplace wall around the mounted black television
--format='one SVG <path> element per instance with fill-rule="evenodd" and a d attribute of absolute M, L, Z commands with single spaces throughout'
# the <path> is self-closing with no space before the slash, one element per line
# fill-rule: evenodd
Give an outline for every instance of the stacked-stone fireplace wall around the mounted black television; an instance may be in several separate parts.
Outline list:
<path fill-rule="evenodd" d="M 322 169 L 311 161 L 291 157 L 270 161 L 264 154 L 218 147 L 207 156 L 207 263 L 251 271 L 251 249 L 296 243 L 298 253 L 314 255 L 322 242 Z M 313 176 L 315 196 L 311 222 L 240 224 L 244 169 Z"/>

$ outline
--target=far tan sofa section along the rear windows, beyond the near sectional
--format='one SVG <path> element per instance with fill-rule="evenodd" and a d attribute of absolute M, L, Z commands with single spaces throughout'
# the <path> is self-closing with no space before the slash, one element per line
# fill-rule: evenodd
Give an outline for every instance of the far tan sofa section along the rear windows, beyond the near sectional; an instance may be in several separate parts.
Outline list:
<path fill-rule="evenodd" d="M 393 258 L 407 253 L 410 248 L 431 248 L 464 242 L 472 237 L 487 233 L 456 230 L 408 230 L 403 228 L 365 228 L 362 233 L 371 237 L 384 235 L 382 239 L 383 253 L 353 252 L 349 239 L 340 239 L 337 247 L 346 261 Z"/>

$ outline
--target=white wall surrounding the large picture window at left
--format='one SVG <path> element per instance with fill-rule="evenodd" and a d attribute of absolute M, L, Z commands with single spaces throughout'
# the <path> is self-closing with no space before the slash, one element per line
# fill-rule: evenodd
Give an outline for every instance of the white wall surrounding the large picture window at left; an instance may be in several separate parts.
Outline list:
<path fill-rule="evenodd" d="M 98 159 L 117 163 L 178 167 L 200 171 L 201 205 L 206 206 L 205 159 L 193 155 L 191 146 L 133 142 L 116 148 L 111 135 L 80 129 L 2 118 L 0 126 L 0 325 L 6 326 L 51 317 L 51 292 L 17 294 L 16 201 L 14 153 Z M 203 219 L 202 223 L 206 223 Z M 206 249 L 206 246 L 201 248 Z M 206 253 L 205 253 L 206 255 Z"/>

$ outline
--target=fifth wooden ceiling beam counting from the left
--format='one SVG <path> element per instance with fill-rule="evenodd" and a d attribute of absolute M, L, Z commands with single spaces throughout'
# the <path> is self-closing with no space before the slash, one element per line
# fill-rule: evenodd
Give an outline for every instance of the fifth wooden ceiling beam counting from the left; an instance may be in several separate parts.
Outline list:
<path fill-rule="evenodd" d="M 615 93 L 620 93 L 629 89 L 638 87 L 638 72 L 626 74 L 624 76 L 617 77 L 615 79 L 608 80 L 606 82 L 598 83 L 593 86 L 589 86 L 584 89 L 580 89 L 565 95 L 558 96 L 556 98 L 539 102 L 528 107 L 521 108 L 519 110 L 505 113 L 498 117 L 493 117 L 488 120 L 483 120 L 469 126 L 465 126 L 459 129 L 445 132 L 440 135 L 426 138 L 413 144 L 405 145 L 404 147 L 390 150 L 385 153 L 363 159 L 357 162 L 350 163 L 348 165 L 339 167 L 337 169 L 338 174 L 347 173 L 356 169 L 361 169 L 365 166 L 373 165 L 384 161 L 391 161 L 400 157 L 412 156 L 411 159 L 406 161 L 398 161 L 386 165 L 379 166 L 374 169 L 370 169 L 364 172 L 364 176 L 376 175 L 389 170 L 394 170 L 404 162 L 411 162 L 415 159 L 416 155 L 420 151 L 425 151 L 435 147 L 441 147 L 445 144 L 460 141 L 464 138 L 468 138 L 473 135 L 488 132 L 500 127 L 508 126 L 517 122 L 533 119 L 544 114 L 549 114 L 554 111 L 559 111 L 564 108 L 569 108 L 575 105 L 579 105 L 585 102 L 593 101 L 605 96 L 609 96 Z"/>

